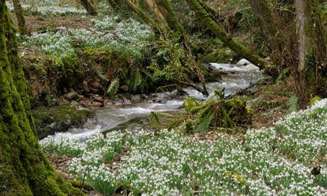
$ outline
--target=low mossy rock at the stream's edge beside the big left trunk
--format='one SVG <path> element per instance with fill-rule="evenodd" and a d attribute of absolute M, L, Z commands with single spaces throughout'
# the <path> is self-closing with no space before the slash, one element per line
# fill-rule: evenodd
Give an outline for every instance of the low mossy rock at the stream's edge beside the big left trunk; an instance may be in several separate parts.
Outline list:
<path fill-rule="evenodd" d="M 44 138 L 55 132 L 64 132 L 78 127 L 91 118 L 94 113 L 87 109 L 77 110 L 69 104 L 55 107 L 38 107 L 32 110 L 38 138 Z"/>

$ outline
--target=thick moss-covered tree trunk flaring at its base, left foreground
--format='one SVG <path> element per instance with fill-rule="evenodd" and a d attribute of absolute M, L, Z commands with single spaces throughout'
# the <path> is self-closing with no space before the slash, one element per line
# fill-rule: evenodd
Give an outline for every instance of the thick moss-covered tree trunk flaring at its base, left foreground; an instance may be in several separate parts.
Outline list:
<path fill-rule="evenodd" d="M 56 175 L 33 126 L 16 31 L 0 0 L 0 195 L 83 195 Z"/>

